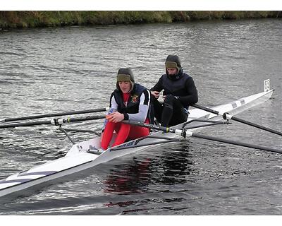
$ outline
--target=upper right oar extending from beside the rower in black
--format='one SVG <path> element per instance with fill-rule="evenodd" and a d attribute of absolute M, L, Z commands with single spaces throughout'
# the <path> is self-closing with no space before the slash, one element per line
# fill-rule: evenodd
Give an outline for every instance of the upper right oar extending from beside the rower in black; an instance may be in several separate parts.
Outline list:
<path fill-rule="evenodd" d="M 270 133 L 276 133 L 277 135 L 280 135 L 282 136 L 282 133 L 279 132 L 279 131 L 276 131 L 274 129 L 269 129 L 267 127 L 264 127 L 264 126 L 261 126 L 261 125 L 258 125 L 258 124 L 255 124 L 255 123 L 252 123 L 250 121 L 245 121 L 244 119 L 239 119 L 237 117 L 234 117 L 233 115 L 229 114 L 228 112 L 218 112 L 214 109 L 210 109 L 208 107 L 204 107 L 204 106 L 200 106 L 200 105 L 191 105 L 192 107 L 196 107 L 196 108 L 199 108 L 199 109 L 202 109 L 206 112 L 211 112 L 213 114 L 217 114 L 217 115 L 220 115 L 223 117 L 223 119 L 232 119 L 234 121 L 238 121 L 240 123 L 243 123 L 243 124 L 246 124 L 246 125 L 249 125 L 249 126 L 253 126 L 253 127 L 256 127 L 258 129 L 263 129 L 264 131 L 269 131 Z"/>

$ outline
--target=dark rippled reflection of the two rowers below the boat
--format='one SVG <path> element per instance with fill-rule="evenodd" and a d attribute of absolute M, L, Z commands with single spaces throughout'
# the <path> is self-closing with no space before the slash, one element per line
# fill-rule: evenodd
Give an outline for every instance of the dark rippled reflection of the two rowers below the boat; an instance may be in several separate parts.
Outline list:
<path fill-rule="evenodd" d="M 164 199 L 168 202 L 176 201 L 175 194 L 185 192 L 183 188 L 180 189 L 181 191 L 178 190 L 179 184 L 195 182 L 194 177 L 190 175 L 193 174 L 191 171 L 194 167 L 191 167 L 193 162 L 189 148 L 184 145 L 176 147 L 174 145 L 172 148 L 172 145 L 168 145 L 166 150 L 148 153 L 146 152 L 146 155 L 149 155 L 150 158 L 133 157 L 133 161 L 130 159 L 130 164 L 125 162 L 122 165 L 115 165 L 114 169 L 110 170 L 109 176 L 103 182 L 105 191 L 106 194 L 117 194 L 119 198 L 118 201 L 113 200 L 106 206 L 127 208 L 123 210 L 122 214 L 146 212 L 149 209 L 144 208 L 142 203 L 151 201 L 152 197 L 149 194 L 154 194 L 153 200 L 157 203 Z M 178 186 L 174 186 L 175 184 Z M 171 189 L 167 190 L 167 186 L 171 186 Z M 166 187 L 165 190 L 164 187 Z M 161 195 L 159 199 L 156 193 Z M 136 194 L 146 195 L 141 200 L 140 198 L 135 200 Z"/>

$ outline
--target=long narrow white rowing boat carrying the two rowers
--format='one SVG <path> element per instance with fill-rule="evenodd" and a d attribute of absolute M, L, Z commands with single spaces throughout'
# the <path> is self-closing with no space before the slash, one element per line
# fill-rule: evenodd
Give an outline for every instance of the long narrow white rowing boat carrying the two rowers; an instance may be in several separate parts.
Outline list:
<path fill-rule="evenodd" d="M 101 148 L 100 137 L 75 143 L 64 157 L 51 160 L 43 165 L 32 167 L 25 172 L 19 172 L 6 179 L 2 179 L 0 181 L 0 197 L 17 194 L 19 191 L 26 191 L 26 189 L 32 186 L 54 181 L 54 179 L 67 178 L 66 176 L 68 175 L 82 172 L 96 165 L 113 160 L 116 157 L 150 148 L 153 145 L 179 141 L 183 139 L 181 136 L 183 134 L 176 133 L 176 131 L 181 131 L 182 133 L 185 126 L 188 126 L 185 127 L 185 134 L 188 132 L 192 135 L 192 132 L 208 126 L 211 122 L 212 124 L 216 124 L 216 121 L 222 121 L 222 115 L 226 117 L 226 114 L 238 114 L 245 109 L 269 100 L 272 93 L 273 90 L 265 89 L 262 93 L 243 97 L 226 105 L 212 107 L 211 110 L 214 113 L 207 112 L 207 110 L 203 109 L 190 109 L 188 121 L 185 124 L 173 126 L 167 133 L 164 133 L 164 131 L 155 131 L 145 138 L 139 138 L 114 148 L 108 148 L 100 155 L 93 152 L 93 150 Z M 231 119 L 231 117 L 227 117 L 227 121 L 228 119 Z M 154 127 L 151 128 L 154 129 Z M 171 131 L 174 131 L 174 133 Z"/>

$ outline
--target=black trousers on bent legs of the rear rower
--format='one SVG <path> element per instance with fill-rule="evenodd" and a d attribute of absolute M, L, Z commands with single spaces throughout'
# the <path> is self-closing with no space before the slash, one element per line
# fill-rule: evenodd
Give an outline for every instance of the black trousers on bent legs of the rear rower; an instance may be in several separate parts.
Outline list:
<path fill-rule="evenodd" d="M 164 104 L 161 104 L 155 97 L 152 97 L 152 102 L 154 117 L 161 123 L 161 126 L 175 126 L 187 121 L 187 109 L 173 95 L 166 95 Z"/>

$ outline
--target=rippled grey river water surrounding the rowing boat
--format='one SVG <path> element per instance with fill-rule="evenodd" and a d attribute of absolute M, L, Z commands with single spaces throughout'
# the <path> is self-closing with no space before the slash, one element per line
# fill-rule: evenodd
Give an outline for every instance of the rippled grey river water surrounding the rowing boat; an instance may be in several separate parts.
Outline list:
<path fill-rule="evenodd" d="M 238 117 L 281 131 L 282 21 L 274 19 L 0 31 L 0 118 L 106 107 L 119 67 L 151 88 L 168 54 L 194 78 L 200 104 L 262 91 Z M 102 121 L 68 125 L 101 129 Z M 233 122 L 201 133 L 282 148 Z M 75 141 L 91 134 L 75 134 Z M 71 148 L 52 126 L 0 130 L 0 179 Z M 1 215 L 281 215 L 282 155 L 191 139 L 127 155 L 0 206 Z"/>

